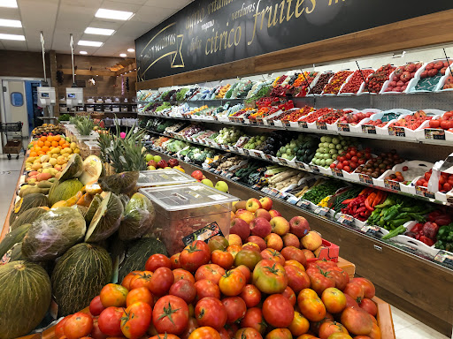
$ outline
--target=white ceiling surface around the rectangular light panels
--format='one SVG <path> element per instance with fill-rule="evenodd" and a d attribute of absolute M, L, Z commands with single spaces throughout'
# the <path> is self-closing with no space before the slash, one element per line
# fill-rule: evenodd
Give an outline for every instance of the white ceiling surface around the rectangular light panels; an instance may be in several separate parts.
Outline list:
<path fill-rule="evenodd" d="M 41 51 L 40 32 L 44 33 L 45 49 L 57 53 L 71 53 L 69 34 L 73 34 L 74 52 L 81 50 L 91 56 L 119 56 L 134 49 L 134 40 L 152 27 L 180 11 L 192 0 L 17 0 L 18 8 L 0 7 L 0 19 L 22 21 L 22 28 L 2 27 L 0 34 L 24 34 L 26 41 L 0 40 L 0 49 Z M 132 11 L 127 21 L 99 19 L 99 8 Z M 110 36 L 84 34 L 90 27 L 110 28 Z M 78 46 L 77 41 L 102 41 L 101 47 Z"/>

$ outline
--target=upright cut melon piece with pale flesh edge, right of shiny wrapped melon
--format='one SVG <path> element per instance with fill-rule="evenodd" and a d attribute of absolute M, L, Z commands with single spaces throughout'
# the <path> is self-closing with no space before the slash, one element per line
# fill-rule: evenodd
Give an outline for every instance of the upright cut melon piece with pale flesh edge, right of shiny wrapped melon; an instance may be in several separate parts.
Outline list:
<path fill-rule="evenodd" d="M 96 214 L 89 223 L 85 241 L 96 243 L 96 241 L 110 237 L 119 229 L 123 211 L 123 204 L 118 196 L 112 192 L 108 192 L 101 205 L 97 207 Z"/>

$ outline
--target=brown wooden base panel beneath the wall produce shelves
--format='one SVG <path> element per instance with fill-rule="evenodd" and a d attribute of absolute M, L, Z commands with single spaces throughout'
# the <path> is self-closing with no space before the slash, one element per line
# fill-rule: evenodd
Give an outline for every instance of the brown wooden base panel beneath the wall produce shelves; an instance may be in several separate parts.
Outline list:
<path fill-rule="evenodd" d="M 163 152 L 157 150 L 152 152 L 161 155 L 165 160 L 170 158 Z M 205 171 L 195 163 L 180 161 L 180 165 L 186 172 L 203 170 L 204 175 L 213 182 L 226 181 L 230 188 L 229 192 L 238 198 L 248 199 L 253 195 L 271 197 L 276 208 L 281 210 L 286 218 L 303 215 L 315 225 L 314 228 L 319 230 L 323 237 L 341 246 L 342 257 L 354 262 L 357 275 L 372 276 L 380 298 L 384 298 L 392 305 L 398 305 L 403 312 L 411 314 L 441 333 L 450 335 L 449 319 L 453 313 L 443 291 L 449 290 L 453 283 L 451 269 L 413 255 L 366 233 L 342 226 L 326 216 L 315 215 L 288 201 L 280 200 L 265 192 L 257 192 L 250 186 L 235 182 L 228 177 Z M 411 275 L 408 275 L 408 270 L 411 271 Z M 436 281 L 436 289 L 424 288 L 424 282 L 432 279 Z"/>

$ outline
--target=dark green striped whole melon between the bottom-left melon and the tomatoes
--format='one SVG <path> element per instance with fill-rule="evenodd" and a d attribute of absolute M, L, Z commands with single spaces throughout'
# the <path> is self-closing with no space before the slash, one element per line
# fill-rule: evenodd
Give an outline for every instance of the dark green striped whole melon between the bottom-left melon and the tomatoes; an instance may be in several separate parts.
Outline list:
<path fill-rule="evenodd" d="M 111 281 L 111 258 L 103 247 L 81 243 L 58 260 L 52 276 L 52 292 L 58 316 L 87 307 L 105 284 Z"/>

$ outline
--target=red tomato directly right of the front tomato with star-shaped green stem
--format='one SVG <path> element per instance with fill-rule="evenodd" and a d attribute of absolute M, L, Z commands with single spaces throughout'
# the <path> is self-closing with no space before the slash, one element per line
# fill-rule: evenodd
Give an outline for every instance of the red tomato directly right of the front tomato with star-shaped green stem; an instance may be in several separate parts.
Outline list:
<path fill-rule="evenodd" d="M 226 308 L 217 298 L 203 298 L 195 306 L 196 320 L 200 326 L 223 328 L 226 324 Z"/>

